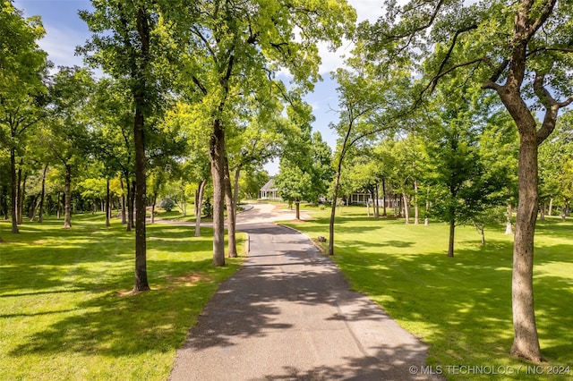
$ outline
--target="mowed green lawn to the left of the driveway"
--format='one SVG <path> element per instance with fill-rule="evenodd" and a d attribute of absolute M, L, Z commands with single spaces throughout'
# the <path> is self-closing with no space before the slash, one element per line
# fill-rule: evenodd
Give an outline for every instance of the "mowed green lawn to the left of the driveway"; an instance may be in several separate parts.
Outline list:
<path fill-rule="evenodd" d="M 134 232 L 103 216 L 0 223 L 0 379 L 165 380 L 188 330 L 244 258 L 212 267 L 212 233 L 148 224 L 151 292 L 131 294 Z M 238 236 L 240 252 L 244 235 Z"/>

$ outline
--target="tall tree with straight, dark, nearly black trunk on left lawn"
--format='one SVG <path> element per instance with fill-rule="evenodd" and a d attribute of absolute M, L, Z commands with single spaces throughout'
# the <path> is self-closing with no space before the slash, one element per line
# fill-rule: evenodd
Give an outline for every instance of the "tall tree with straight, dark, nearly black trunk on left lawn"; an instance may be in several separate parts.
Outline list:
<path fill-rule="evenodd" d="M 135 283 L 133 292 L 150 290 L 147 276 L 147 242 L 145 216 L 146 191 L 146 138 L 150 134 L 146 120 L 160 110 L 162 87 L 169 48 L 159 17 L 158 2 L 131 0 L 92 1 L 92 13 L 81 11 L 94 33 L 90 41 L 79 50 L 87 61 L 100 66 L 116 80 L 125 81 L 133 104 L 133 141 L 135 151 Z M 129 186 L 129 185 L 128 185 Z"/>

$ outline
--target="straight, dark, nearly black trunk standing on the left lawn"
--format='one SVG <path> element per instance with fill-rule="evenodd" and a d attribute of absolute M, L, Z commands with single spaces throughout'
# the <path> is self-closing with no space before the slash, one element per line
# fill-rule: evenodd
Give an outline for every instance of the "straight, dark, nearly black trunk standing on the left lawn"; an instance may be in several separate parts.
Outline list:
<path fill-rule="evenodd" d="M 137 100 L 136 100 L 137 103 Z M 145 237 L 146 202 L 146 158 L 144 116 L 141 109 L 135 109 L 133 140 L 135 142 L 135 284 L 133 292 L 150 290 L 147 279 L 147 242 Z"/>

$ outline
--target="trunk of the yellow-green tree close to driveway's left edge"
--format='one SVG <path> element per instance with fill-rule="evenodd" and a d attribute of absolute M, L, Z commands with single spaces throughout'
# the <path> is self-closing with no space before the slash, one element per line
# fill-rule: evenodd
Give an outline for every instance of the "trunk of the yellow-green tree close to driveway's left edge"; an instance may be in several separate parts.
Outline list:
<path fill-rule="evenodd" d="M 225 130 L 215 118 L 210 136 L 210 164 L 213 178 L 213 266 L 225 266 Z"/>

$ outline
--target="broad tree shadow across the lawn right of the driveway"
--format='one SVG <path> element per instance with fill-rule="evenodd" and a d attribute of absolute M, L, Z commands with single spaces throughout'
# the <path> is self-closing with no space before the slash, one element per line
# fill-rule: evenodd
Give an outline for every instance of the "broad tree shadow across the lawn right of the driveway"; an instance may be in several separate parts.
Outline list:
<path fill-rule="evenodd" d="M 512 246 L 511 242 L 490 241 L 486 248 L 458 249 L 455 258 L 441 252 L 407 256 L 345 253 L 340 266 L 355 289 L 368 292 L 404 326 L 417 326 L 417 334 L 431 344 L 432 361 L 518 364 L 509 356 Z M 546 255 L 537 251 L 536 266 L 571 261 L 564 250 Z M 550 361 L 570 363 L 570 279 L 536 272 L 535 310 L 543 355 Z M 553 343 L 553 339 L 560 344 L 545 350 L 543 343 Z M 558 352 L 563 348 L 568 351 Z"/>

